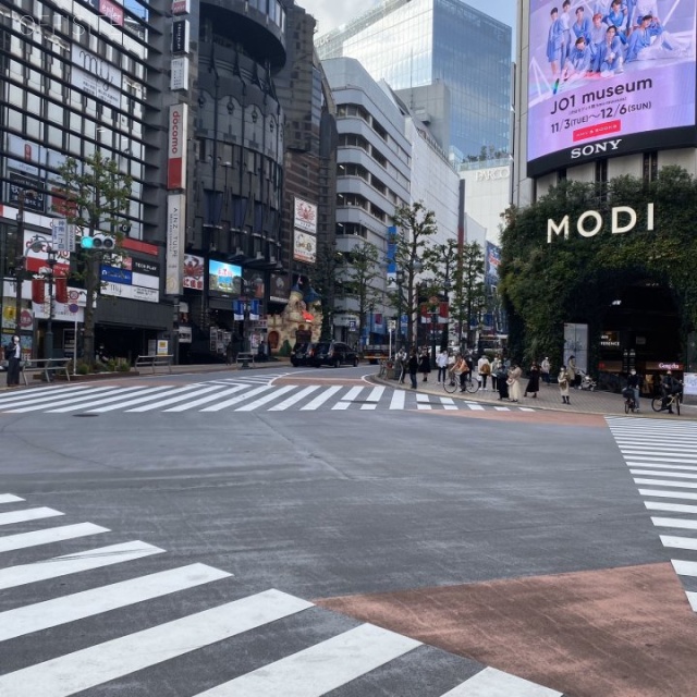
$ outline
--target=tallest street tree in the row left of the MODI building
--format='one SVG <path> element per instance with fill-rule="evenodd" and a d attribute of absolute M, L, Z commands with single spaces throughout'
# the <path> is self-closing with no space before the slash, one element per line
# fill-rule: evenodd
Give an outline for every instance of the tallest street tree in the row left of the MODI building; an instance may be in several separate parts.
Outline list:
<path fill-rule="evenodd" d="M 416 278 L 429 262 L 432 255 L 431 237 L 438 232 L 436 213 L 421 201 L 402 206 L 394 211 L 392 222 L 398 229 L 394 240 L 394 262 L 400 282 L 388 292 L 390 304 L 406 313 L 406 342 L 414 342 L 414 320 L 418 313 Z"/>

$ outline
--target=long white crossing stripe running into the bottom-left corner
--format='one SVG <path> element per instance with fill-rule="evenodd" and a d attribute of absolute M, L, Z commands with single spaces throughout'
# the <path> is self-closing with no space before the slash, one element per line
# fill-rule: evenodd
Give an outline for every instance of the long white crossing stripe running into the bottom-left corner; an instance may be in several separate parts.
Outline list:
<path fill-rule="evenodd" d="M 68 697 L 311 607 L 267 590 L 2 675 L 0 695 Z"/>

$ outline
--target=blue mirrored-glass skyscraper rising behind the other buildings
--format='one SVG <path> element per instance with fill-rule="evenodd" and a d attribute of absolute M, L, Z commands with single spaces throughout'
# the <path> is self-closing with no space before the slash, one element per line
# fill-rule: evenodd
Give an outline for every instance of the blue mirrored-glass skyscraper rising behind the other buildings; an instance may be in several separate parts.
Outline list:
<path fill-rule="evenodd" d="M 462 0 L 384 0 L 316 46 L 384 80 L 456 162 L 510 148 L 511 39 Z"/>

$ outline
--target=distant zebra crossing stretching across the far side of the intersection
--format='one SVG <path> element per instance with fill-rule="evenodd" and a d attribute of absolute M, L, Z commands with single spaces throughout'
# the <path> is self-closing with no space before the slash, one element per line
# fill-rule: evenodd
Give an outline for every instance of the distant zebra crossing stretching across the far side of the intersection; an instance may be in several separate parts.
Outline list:
<path fill-rule="evenodd" d="M 5 414 L 106 414 L 123 412 L 315 412 L 315 411 L 534 412 L 525 406 L 482 405 L 384 386 L 273 384 L 273 376 L 188 384 L 48 386 L 0 395 Z"/>

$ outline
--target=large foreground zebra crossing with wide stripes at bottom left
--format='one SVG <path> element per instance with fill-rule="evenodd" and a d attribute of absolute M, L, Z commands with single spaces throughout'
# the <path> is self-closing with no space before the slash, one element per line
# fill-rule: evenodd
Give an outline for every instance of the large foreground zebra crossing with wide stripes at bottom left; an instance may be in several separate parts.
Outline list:
<path fill-rule="evenodd" d="M 27 563 L 9 565 L 7 557 L 0 555 L 2 697 L 77 693 L 89 697 L 89 690 L 105 685 L 114 694 L 135 689 L 172 697 L 319 697 L 328 693 L 396 697 L 409 684 L 412 663 L 412 670 L 423 671 L 432 651 L 438 651 L 274 588 L 241 595 L 236 579 L 227 571 L 200 562 L 178 566 L 166 550 L 142 540 L 114 541 L 113 531 L 98 525 L 71 522 L 36 527 L 64 514 L 32 506 L 11 493 L 0 494 L 0 528 L 19 527 L 0 535 L 0 553 L 14 551 L 13 562 L 21 561 L 19 550 L 32 554 Z M 85 549 L 60 553 L 64 540 L 80 540 Z M 150 566 L 148 573 L 142 573 L 144 560 L 160 562 L 161 567 L 152 571 Z M 99 585 L 99 578 L 87 573 L 97 568 L 110 570 L 109 583 Z M 27 604 L 17 601 L 22 596 L 12 595 L 19 588 L 59 578 L 63 580 L 39 585 Z M 222 585 L 218 592 L 206 595 L 204 604 L 197 604 L 197 594 L 216 585 Z M 162 599 L 171 602 L 156 609 L 148 604 Z M 139 620 L 145 617 L 145 625 L 130 632 L 124 628 L 127 623 L 114 622 L 114 613 L 134 608 Z M 81 623 L 95 620 L 110 636 L 90 644 L 89 625 Z M 322 625 L 322 636 L 313 637 L 315 625 Z M 65 650 L 73 636 L 87 637 L 86 644 Z M 273 649 L 266 646 L 266 650 L 250 651 L 261 638 L 271 641 Z M 14 645 L 12 651 L 17 640 L 28 644 Z M 224 650 L 211 663 L 210 652 L 221 644 Z M 447 676 L 438 661 L 433 669 L 439 671 L 441 685 L 447 678 L 447 692 L 438 687 L 424 692 L 423 697 L 561 697 L 561 693 L 509 673 L 450 658 L 453 668 Z M 152 671 L 164 662 L 168 674 L 183 671 L 185 686 L 169 682 L 162 692 L 161 675 L 158 678 Z M 384 667 L 389 670 L 379 670 Z M 401 683 L 402 673 L 406 675 Z M 360 692 L 359 681 L 366 678 L 368 692 Z"/>

